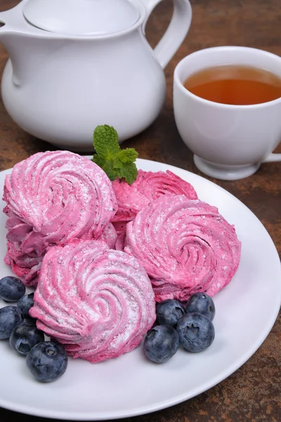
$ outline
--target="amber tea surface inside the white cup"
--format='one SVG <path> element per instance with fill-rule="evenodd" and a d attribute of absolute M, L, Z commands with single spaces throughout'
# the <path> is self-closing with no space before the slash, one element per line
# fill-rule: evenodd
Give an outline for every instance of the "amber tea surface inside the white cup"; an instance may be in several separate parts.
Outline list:
<path fill-rule="evenodd" d="M 267 70 L 220 65 L 190 75 L 183 83 L 192 94 L 234 106 L 267 103 L 281 97 L 281 78 Z"/>

